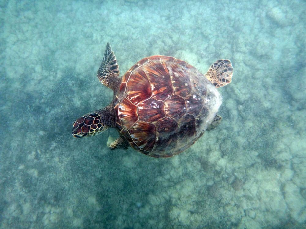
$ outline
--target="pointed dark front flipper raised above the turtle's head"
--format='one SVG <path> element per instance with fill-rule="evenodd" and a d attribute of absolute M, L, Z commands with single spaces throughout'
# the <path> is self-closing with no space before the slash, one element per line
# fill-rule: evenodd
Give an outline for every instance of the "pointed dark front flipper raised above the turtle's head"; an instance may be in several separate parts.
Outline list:
<path fill-rule="evenodd" d="M 97 77 L 106 87 L 114 91 L 119 88 L 121 82 L 121 79 L 119 78 L 119 66 L 109 42 L 107 42 L 104 57 L 99 67 Z"/>

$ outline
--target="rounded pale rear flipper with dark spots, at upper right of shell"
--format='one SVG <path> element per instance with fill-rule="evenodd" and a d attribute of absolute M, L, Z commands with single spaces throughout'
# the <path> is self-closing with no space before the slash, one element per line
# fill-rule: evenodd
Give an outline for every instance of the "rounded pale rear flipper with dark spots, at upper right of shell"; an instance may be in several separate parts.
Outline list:
<path fill-rule="evenodd" d="M 206 78 L 217 88 L 223 87 L 232 81 L 233 66 L 230 60 L 217 60 L 205 74 Z"/>

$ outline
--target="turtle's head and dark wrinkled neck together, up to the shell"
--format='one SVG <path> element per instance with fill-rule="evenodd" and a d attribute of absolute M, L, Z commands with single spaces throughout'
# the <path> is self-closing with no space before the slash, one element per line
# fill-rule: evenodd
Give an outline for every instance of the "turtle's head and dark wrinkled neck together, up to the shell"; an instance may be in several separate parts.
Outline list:
<path fill-rule="evenodd" d="M 104 130 L 114 127 L 114 117 L 112 104 L 83 115 L 73 123 L 72 136 L 76 138 L 90 137 L 102 133 Z"/>

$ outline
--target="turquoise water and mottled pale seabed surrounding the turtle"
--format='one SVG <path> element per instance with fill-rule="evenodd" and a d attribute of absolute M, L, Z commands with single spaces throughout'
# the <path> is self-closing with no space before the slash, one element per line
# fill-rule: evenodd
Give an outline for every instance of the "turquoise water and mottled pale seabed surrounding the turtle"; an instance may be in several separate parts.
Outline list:
<path fill-rule="evenodd" d="M 304 228 L 304 1 L 0 1 L 0 228 Z M 84 139 L 73 121 L 109 104 L 145 56 L 205 73 L 228 58 L 221 125 L 173 158 Z"/>

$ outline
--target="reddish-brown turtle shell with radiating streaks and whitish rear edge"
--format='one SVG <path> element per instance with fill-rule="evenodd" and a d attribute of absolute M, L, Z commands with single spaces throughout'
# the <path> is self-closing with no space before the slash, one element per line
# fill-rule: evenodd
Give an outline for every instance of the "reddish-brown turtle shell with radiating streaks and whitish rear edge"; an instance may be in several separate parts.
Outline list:
<path fill-rule="evenodd" d="M 221 100 L 195 67 L 170 56 L 149 56 L 122 77 L 113 100 L 116 127 L 135 150 L 171 157 L 204 133 Z"/>

